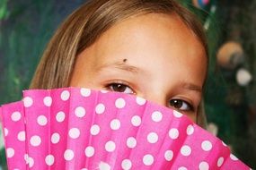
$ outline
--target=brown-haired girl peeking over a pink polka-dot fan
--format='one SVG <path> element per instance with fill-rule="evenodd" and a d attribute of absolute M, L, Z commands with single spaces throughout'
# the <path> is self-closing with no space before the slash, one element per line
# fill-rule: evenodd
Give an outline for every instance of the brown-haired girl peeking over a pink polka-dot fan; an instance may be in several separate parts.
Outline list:
<path fill-rule="evenodd" d="M 174 0 L 93 0 L 49 42 L 31 89 L 86 87 L 137 95 L 205 125 L 207 43 Z"/>

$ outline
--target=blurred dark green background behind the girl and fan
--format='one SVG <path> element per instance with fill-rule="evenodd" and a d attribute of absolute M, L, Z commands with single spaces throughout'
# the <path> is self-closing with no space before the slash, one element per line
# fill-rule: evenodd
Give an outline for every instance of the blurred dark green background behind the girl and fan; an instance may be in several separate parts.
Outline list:
<path fill-rule="evenodd" d="M 256 1 L 180 0 L 207 31 L 208 131 L 256 168 Z M 83 0 L 0 0 L 0 104 L 20 100 L 49 38 Z M 0 132 L 0 170 L 6 169 Z"/>

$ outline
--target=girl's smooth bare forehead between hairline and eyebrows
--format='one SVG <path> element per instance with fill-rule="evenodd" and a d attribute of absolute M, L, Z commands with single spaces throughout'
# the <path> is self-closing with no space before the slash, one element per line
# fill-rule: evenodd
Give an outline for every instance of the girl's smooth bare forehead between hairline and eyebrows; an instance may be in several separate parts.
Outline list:
<path fill-rule="evenodd" d="M 175 68 L 177 73 L 196 74 L 202 82 L 205 79 L 204 47 L 174 14 L 151 13 L 120 21 L 84 51 L 95 68 L 127 59 L 128 64 L 155 75 L 167 76 L 170 68 Z"/>

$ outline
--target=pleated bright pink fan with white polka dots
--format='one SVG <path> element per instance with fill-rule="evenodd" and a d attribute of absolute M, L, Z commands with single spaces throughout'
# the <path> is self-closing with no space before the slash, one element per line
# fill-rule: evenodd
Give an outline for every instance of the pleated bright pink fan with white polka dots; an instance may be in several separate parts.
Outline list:
<path fill-rule="evenodd" d="M 92 89 L 27 90 L 4 105 L 9 169 L 250 169 L 185 115 Z"/>

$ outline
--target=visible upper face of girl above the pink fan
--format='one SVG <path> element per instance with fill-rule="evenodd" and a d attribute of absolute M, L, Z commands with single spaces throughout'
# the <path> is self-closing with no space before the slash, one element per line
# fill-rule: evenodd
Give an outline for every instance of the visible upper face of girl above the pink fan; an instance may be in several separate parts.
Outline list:
<path fill-rule="evenodd" d="M 133 94 L 196 120 L 207 72 L 198 38 L 176 15 L 121 21 L 77 56 L 72 87 Z"/>

